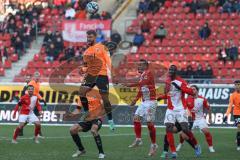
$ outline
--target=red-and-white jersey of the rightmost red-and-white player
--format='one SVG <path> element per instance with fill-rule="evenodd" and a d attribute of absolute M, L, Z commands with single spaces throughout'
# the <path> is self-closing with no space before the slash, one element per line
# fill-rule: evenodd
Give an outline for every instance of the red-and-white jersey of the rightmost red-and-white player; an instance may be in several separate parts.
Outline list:
<path fill-rule="evenodd" d="M 193 96 L 188 96 L 187 107 L 191 111 L 193 120 L 202 119 L 204 117 L 204 109 L 209 110 L 210 105 L 206 98 L 198 96 L 194 98 Z"/>

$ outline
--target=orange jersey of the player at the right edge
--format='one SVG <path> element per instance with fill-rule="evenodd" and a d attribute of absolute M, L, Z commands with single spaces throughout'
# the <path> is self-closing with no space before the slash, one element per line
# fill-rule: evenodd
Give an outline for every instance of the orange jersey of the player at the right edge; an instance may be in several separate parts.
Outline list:
<path fill-rule="evenodd" d="M 240 115 L 240 93 L 233 92 L 230 96 L 228 109 L 226 115 L 228 116 L 232 112 L 233 108 L 233 115 Z"/>

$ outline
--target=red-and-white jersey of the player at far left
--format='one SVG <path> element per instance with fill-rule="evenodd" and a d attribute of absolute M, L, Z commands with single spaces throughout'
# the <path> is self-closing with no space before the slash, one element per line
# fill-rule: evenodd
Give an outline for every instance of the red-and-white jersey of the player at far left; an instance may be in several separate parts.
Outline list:
<path fill-rule="evenodd" d="M 37 96 L 29 96 L 28 94 L 25 94 L 21 97 L 18 104 L 16 105 L 14 109 L 14 113 L 16 113 L 19 109 L 19 106 L 21 106 L 20 114 L 29 115 L 33 112 L 34 107 L 36 106 L 38 111 L 42 111 L 42 107 L 40 106 L 38 102 Z"/>

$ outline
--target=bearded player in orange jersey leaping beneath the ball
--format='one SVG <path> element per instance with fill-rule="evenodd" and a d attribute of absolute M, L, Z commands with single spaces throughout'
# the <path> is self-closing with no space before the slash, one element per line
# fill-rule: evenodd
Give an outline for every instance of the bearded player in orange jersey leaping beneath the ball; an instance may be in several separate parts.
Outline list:
<path fill-rule="evenodd" d="M 89 114 L 88 99 L 86 94 L 97 86 L 103 100 L 104 109 L 108 117 L 110 129 L 114 130 L 112 118 L 112 106 L 109 101 L 108 69 L 111 69 L 111 59 L 108 49 L 101 43 L 96 43 L 97 33 L 94 30 L 87 31 L 88 48 L 83 54 L 85 77 L 80 87 L 80 100 L 84 109 L 82 120 Z"/>

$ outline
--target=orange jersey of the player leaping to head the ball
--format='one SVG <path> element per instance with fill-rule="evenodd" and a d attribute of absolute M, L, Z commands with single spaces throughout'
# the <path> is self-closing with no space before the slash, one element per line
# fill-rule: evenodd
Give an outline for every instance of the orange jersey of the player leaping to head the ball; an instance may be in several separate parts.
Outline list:
<path fill-rule="evenodd" d="M 107 69 L 111 69 L 111 59 L 107 48 L 97 43 L 90 46 L 83 54 L 83 62 L 87 67 L 87 74 L 92 76 L 107 75 Z"/>

